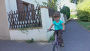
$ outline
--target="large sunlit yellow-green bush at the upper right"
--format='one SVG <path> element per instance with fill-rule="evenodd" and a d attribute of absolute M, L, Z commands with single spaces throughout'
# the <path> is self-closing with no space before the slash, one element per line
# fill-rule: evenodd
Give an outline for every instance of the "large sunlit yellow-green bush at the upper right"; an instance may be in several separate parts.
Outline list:
<path fill-rule="evenodd" d="M 90 0 L 78 4 L 77 16 L 81 21 L 90 21 Z"/>

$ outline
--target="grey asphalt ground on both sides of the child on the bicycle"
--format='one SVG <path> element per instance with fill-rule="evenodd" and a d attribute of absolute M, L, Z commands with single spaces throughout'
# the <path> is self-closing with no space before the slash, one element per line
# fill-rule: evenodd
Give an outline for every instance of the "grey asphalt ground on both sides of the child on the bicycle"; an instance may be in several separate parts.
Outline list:
<path fill-rule="evenodd" d="M 60 51 L 90 51 L 90 32 L 77 22 L 70 21 L 63 34 L 65 47 Z M 51 43 L 32 43 L 0 41 L 0 51 L 52 51 Z"/>

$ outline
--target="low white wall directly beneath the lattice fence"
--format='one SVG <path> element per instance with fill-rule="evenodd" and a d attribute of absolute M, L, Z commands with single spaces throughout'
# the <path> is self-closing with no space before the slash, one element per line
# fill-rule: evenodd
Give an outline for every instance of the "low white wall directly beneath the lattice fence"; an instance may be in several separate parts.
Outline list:
<path fill-rule="evenodd" d="M 43 29 L 33 29 L 33 30 L 10 30 L 11 40 L 30 40 L 35 41 L 46 41 L 46 32 Z"/>

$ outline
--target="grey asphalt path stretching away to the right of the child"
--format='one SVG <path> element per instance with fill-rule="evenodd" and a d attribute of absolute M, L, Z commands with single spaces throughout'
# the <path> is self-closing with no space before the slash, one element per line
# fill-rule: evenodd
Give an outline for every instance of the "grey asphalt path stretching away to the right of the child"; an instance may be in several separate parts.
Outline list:
<path fill-rule="evenodd" d="M 77 22 L 70 21 L 63 36 L 65 47 L 62 51 L 90 51 L 90 32 Z"/>

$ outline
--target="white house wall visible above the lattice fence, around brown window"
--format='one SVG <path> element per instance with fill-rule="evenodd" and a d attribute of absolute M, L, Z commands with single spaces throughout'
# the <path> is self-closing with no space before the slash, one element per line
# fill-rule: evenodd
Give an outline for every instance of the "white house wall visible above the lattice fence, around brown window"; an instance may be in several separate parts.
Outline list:
<path fill-rule="evenodd" d="M 24 2 L 30 3 L 30 4 L 34 4 L 34 6 L 37 6 L 37 3 L 39 3 L 40 5 L 42 5 L 42 2 L 47 2 L 47 0 L 36 0 L 37 3 L 35 2 L 35 0 L 22 0 Z M 16 11 L 17 10 L 17 3 L 16 0 L 5 0 L 5 4 L 6 4 L 6 11 L 7 13 L 9 11 Z"/>

